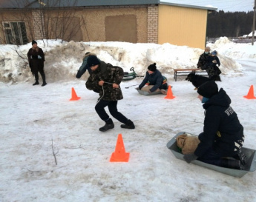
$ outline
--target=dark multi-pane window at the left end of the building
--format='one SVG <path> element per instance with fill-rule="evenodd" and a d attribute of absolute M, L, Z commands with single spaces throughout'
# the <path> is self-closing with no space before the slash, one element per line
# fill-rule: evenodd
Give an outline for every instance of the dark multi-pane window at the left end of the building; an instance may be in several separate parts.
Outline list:
<path fill-rule="evenodd" d="M 7 44 L 27 44 L 27 32 L 24 22 L 3 22 L 4 35 Z"/>

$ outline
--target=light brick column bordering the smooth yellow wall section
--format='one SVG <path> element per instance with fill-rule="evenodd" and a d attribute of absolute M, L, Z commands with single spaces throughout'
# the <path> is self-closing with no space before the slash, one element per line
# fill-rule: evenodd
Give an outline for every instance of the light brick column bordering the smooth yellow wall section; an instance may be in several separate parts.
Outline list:
<path fill-rule="evenodd" d="M 158 6 L 148 7 L 148 43 L 158 43 Z"/>

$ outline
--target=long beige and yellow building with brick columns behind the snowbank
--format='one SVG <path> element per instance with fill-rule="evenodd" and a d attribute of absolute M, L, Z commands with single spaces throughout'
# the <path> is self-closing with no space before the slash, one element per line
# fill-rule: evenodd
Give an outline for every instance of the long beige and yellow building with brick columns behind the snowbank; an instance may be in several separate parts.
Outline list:
<path fill-rule="evenodd" d="M 217 10 L 159 0 L 16 2 L 0 1 L 1 44 L 61 38 L 65 41 L 170 43 L 204 48 L 207 16 Z"/>

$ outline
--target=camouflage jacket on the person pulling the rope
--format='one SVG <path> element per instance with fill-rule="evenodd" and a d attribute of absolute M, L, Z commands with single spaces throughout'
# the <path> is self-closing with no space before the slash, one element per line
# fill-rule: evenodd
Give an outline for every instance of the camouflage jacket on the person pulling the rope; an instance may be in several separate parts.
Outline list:
<path fill-rule="evenodd" d="M 99 98 L 102 98 L 102 100 L 121 100 L 123 98 L 121 88 L 114 88 L 112 84 L 120 84 L 123 75 L 124 73 L 121 67 L 116 67 L 112 64 L 106 64 L 104 61 L 100 61 L 99 67 L 95 71 L 92 71 L 85 86 L 88 90 L 99 92 Z M 104 85 L 99 86 L 99 81 L 105 81 Z M 111 84 L 108 84 L 107 82 Z"/>

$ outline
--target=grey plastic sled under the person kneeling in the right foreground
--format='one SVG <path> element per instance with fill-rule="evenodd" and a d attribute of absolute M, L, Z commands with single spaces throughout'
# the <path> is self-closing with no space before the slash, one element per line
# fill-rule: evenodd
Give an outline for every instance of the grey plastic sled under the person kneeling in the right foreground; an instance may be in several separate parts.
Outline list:
<path fill-rule="evenodd" d="M 176 138 L 179 135 L 182 135 L 183 133 L 189 134 L 188 132 L 179 132 L 179 133 L 177 133 L 177 135 L 175 135 L 174 138 L 171 138 L 171 140 L 168 141 L 168 143 L 166 144 L 166 147 L 171 150 L 171 152 L 174 154 L 174 156 L 176 158 L 185 161 L 183 159 L 184 155 L 183 155 L 182 152 L 180 152 L 180 149 L 177 147 L 177 142 L 176 142 Z M 214 165 L 211 165 L 211 164 L 203 163 L 202 161 L 198 161 L 198 160 L 191 161 L 191 164 L 196 164 L 198 166 L 203 166 L 203 167 L 206 167 L 208 169 L 212 169 L 212 170 L 217 171 L 217 172 L 222 172 L 226 175 L 231 175 L 231 176 L 236 177 L 236 178 L 241 178 L 241 177 L 243 177 L 243 175 L 246 175 L 247 172 L 254 172 L 256 170 L 255 149 L 249 149 L 249 148 L 246 148 L 246 147 L 242 147 L 242 151 L 246 155 L 246 158 L 247 158 L 247 163 L 246 163 L 246 166 L 245 166 L 244 170 L 230 169 L 230 168 L 224 168 L 224 167 L 220 167 L 220 166 L 214 166 Z"/>

